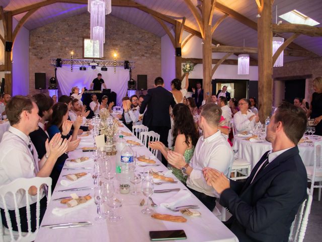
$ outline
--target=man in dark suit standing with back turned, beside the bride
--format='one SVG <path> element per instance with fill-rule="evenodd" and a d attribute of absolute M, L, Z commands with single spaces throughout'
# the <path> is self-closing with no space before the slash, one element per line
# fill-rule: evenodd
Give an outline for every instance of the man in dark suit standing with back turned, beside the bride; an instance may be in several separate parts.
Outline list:
<path fill-rule="evenodd" d="M 160 142 L 168 147 L 168 135 L 171 129 L 169 108 L 176 105 L 171 92 L 164 88 L 165 83 L 161 77 L 154 80 L 155 88 L 147 90 L 147 94 L 140 107 L 140 118 L 142 118 L 145 108 L 143 125 L 160 135 Z M 162 163 L 168 165 L 168 161 L 162 156 Z"/>

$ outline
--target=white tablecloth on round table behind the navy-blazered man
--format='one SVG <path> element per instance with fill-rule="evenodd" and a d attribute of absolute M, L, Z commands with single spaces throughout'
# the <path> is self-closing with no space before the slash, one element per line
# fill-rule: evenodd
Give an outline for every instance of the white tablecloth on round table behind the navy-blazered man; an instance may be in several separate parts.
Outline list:
<path fill-rule="evenodd" d="M 316 140 L 311 139 L 310 141 L 313 145 Z M 246 140 L 244 137 L 234 137 L 232 149 L 237 151 L 235 154 L 237 158 L 250 161 L 253 169 L 263 154 L 272 149 L 272 145 L 269 142 L 256 143 Z M 302 143 L 298 145 L 298 149 L 304 165 L 313 165 L 314 147 L 310 146 L 310 143 Z"/>

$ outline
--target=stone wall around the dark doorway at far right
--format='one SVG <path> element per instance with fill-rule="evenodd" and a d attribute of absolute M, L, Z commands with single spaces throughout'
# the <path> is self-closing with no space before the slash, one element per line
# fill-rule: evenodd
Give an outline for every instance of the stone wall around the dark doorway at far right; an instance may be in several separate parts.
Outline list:
<path fill-rule="evenodd" d="M 273 71 L 274 86 L 273 93 L 276 95 L 275 89 L 282 88 L 283 84 L 278 84 L 279 80 L 306 79 L 305 82 L 305 99 L 310 100 L 313 93 L 312 81 L 315 77 L 322 76 L 322 57 L 302 59 L 300 61 L 284 63 L 283 67 L 275 67 Z M 284 95 L 280 93 L 279 95 Z M 275 100 L 281 100 L 284 97 L 275 97 Z M 274 100 L 274 99 L 273 99 Z"/>

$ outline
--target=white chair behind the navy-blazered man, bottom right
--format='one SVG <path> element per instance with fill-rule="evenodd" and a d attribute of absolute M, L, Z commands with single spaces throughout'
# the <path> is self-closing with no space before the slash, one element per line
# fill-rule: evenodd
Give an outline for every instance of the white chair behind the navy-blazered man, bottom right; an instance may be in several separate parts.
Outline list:
<path fill-rule="evenodd" d="M 309 189 L 307 189 L 307 195 L 307 199 L 305 199 L 305 201 L 299 207 L 298 212 L 295 215 L 294 221 L 291 225 L 290 234 L 288 236 L 289 242 L 302 242 L 304 239 L 308 215 L 310 214 L 312 204 L 312 194 Z"/>

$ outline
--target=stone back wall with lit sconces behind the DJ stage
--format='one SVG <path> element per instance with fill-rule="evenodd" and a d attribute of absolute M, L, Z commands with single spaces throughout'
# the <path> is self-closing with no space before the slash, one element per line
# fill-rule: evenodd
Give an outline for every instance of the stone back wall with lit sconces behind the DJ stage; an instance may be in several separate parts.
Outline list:
<path fill-rule="evenodd" d="M 83 39 L 90 38 L 90 14 L 84 13 L 57 21 L 30 31 L 29 79 L 30 94 L 35 90 L 35 73 L 45 72 L 48 80 L 54 76 L 50 58 L 83 58 Z M 104 59 L 134 61 L 132 78 L 138 74 L 147 75 L 148 88 L 153 87 L 154 79 L 161 75 L 161 39 L 135 25 L 112 15 L 106 17 L 106 41 Z"/>

